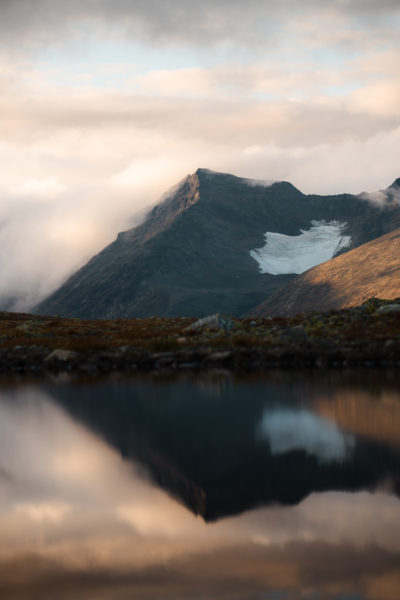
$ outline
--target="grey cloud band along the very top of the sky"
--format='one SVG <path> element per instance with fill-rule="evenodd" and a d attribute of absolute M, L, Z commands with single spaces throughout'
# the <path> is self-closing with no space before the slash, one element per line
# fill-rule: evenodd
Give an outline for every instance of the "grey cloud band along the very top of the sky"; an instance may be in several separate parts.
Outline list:
<path fill-rule="evenodd" d="M 296 20 L 329 12 L 350 18 L 372 20 L 376 29 L 378 18 L 398 13 L 393 0 L 377 2 L 342 1 L 329 3 L 329 10 L 321 9 L 318 0 L 249 0 L 245 5 L 238 0 L 203 0 L 201 4 L 188 0 L 2 0 L 0 30 L 3 42 L 16 42 L 23 36 L 26 44 L 41 44 L 55 40 L 60 32 L 71 33 L 77 23 L 82 27 L 91 23 L 103 30 L 123 28 L 129 36 L 147 36 L 163 42 L 230 41 L 265 45 L 279 39 L 277 30 L 288 16 Z M 326 24 L 327 25 L 327 24 Z M 327 31 L 335 28 L 324 27 Z"/>

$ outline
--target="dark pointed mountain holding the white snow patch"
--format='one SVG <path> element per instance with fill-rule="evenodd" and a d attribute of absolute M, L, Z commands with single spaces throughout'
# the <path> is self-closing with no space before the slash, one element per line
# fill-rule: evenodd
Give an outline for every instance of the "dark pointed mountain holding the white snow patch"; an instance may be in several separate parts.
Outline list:
<path fill-rule="evenodd" d="M 239 316 L 296 274 L 396 227 L 395 194 L 378 205 L 198 169 L 34 311 Z"/>

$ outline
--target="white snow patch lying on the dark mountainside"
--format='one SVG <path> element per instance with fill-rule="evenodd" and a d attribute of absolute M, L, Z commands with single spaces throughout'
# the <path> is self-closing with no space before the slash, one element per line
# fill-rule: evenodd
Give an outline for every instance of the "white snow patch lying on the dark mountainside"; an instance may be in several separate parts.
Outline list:
<path fill-rule="evenodd" d="M 304 273 L 350 246 L 351 237 L 343 235 L 346 225 L 340 221 L 311 221 L 310 229 L 300 229 L 300 235 L 267 231 L 265 246 L 250 250 L 250 256 L 258 262 L 261 273 Z"/>

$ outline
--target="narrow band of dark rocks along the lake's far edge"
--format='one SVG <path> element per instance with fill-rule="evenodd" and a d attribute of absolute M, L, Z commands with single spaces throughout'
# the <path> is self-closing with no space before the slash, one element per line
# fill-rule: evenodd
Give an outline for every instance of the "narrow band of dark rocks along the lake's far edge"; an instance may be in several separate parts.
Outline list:
<path fill-rule="evenodd" d="M 0 373 L 45 373 L 105 374 L 113 372 L 175 372 L 227 369 L 237 372 L 263 371 L 265 369 L 309 369 L 343 367 L 400 366 L 400 347 L 388 352 L 380 345 L 368 348 L 308 347 L 271 348 L 264 350 L 234 349 L 210 352 L 207 348 L 180 352 L 141 352 L 127 348 L 113 352 L 69 352 L 59 358 L 59 351 L 48 355 L 41 347 L 15 348 L 0 351 Z"/>

